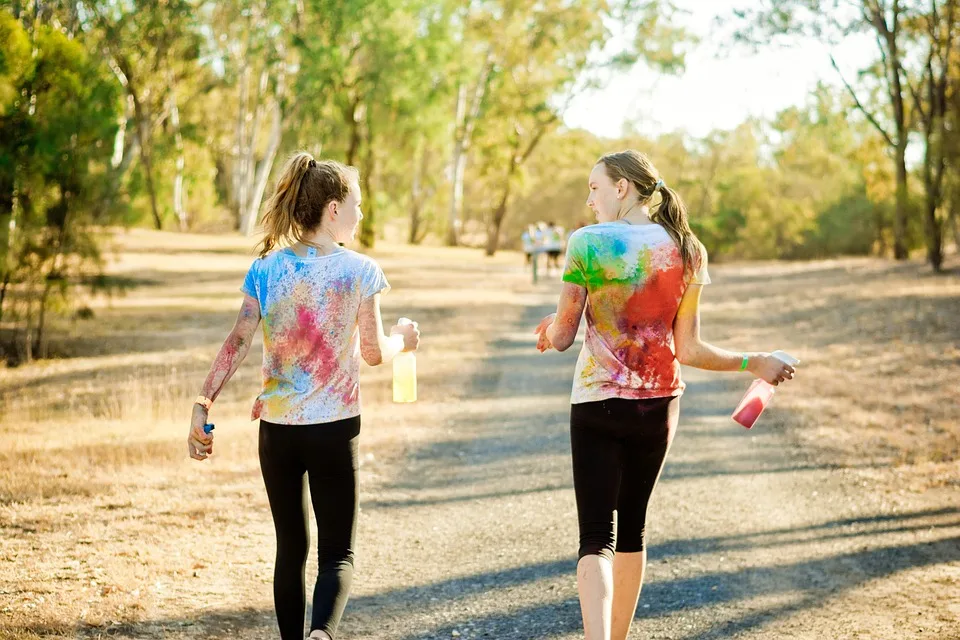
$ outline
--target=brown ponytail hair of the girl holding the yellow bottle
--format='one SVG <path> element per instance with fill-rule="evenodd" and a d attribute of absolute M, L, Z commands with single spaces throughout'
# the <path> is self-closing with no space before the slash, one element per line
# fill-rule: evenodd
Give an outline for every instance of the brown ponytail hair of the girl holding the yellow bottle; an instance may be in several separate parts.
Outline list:
<path fill-rule="evenodd" d="M 343 202 L 359 172 L 333 160 L 317 162 L 309 153 L 295 153 L 287 161 L 277 189 L 267 202 L 260 222 L 263 240 L 257 251 L 263 258 L 278 245 L 299 241 L 304 232 L 320 226 L 331 201 Z"/>

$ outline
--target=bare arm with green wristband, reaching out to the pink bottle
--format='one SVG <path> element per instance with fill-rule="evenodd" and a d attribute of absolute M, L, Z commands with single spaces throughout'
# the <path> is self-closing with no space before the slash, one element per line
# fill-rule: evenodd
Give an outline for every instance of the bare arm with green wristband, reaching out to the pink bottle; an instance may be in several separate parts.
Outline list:
<path fill-rule="evenodd" d="M 715 347 L 700 338 L 700 294 L 703 286 L 691 284 L 680 300 L 673 321 L 677 360 L 708 371 L 739 371 L 747 357 L 747 371 L 770 384 L 793 378 L 794 368 L 769 353 L 735 352 Z"/>

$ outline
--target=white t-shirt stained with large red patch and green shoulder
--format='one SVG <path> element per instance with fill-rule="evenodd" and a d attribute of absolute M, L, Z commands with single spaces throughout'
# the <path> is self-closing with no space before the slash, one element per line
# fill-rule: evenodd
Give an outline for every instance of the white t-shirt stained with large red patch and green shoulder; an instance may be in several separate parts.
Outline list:
<path fill-rule="evenodd" d="M 595 224 L 570 236 L 563 280 L 587 290 L 573 404 L 683 393 L 673 321 L 687 285 L 710 282 L 705 252 L 688 279 L 660 225 Z"/>

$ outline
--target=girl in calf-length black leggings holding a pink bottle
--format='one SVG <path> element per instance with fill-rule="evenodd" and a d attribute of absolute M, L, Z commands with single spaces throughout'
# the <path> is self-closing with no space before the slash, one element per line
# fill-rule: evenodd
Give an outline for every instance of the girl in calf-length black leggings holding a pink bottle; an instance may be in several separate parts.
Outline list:
<path fill-rule="evenodd" d="M 537 348 L 568 349 L 586 309 L 570 412 L 577 585 L 586 639 L 624 640 L 643 582 L 647 503 L 677 428 L 680 365 L 746 370 L 774 385 L 794 369 L 700 339 L 707 252 L 645 155 L 601 157 L 589 190 L 599 224 L 570 236 L 557 312 L 537 327 Z"/>

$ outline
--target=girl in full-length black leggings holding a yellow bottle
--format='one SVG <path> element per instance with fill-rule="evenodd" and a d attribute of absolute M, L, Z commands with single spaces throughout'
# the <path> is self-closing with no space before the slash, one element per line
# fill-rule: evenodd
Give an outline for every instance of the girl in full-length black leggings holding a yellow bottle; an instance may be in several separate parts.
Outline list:
<path fill-rule="evenodd" d="M 357 529 L 360 361 L 376 366 L 420 342 L 416 323 L 384 335 L 380 266 L 341 246 L 363 218 L 353 167 L 298 153 L 263 215 L 263 240 L 241 287 L 236 326 L 193 406 L 187 449 L 213 452 L 210 407 L 250 349 L 263 320 L 260 468 L 277 534 L 273 593 L 282 640 L 301 640 L 309 546 L 306 486 L 317 520 L 319 567 L 310 637 L 334 637 L 353 578 Z"/>

